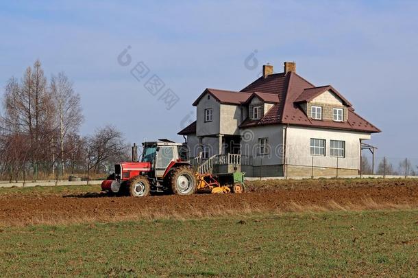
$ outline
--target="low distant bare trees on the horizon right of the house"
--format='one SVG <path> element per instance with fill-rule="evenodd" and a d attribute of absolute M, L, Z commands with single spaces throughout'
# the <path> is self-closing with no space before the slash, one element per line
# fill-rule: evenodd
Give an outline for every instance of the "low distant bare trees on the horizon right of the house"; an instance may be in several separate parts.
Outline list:
<path fill-rule="evenodd" d="M 362 174 L 371 174 L 372 171 L 372 165 L 369 162 L 369 159 L 367 157 L 362 157 Z M 413 163 L 409 159 L 402 159 L 398 164 L 393 165 L 388 159 L 383 158 L 380 160 L 377 170 L 374 171 L 375 174 L 386 174 L 386 175 L 408 175 L 408 176 L 416 176 L 417 172 L 415 171 L 417 166 L 414 166 Z M 375 168 L 376 169 L 376 168 Z"/>

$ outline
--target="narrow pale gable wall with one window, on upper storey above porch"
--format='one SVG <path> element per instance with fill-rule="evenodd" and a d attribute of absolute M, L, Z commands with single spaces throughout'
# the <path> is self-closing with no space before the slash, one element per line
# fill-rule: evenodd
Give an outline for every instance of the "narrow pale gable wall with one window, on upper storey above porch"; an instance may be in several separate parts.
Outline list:
<path fill-rule="evenodd" d="M 217 135 L 220 130 L 220 111 L 221 104 L 208 93 L 201 97 L 196 108 L 196 132 L 197 136 Z M 212 108 L 212 121 L 205 122 L 205 109 Z"/>

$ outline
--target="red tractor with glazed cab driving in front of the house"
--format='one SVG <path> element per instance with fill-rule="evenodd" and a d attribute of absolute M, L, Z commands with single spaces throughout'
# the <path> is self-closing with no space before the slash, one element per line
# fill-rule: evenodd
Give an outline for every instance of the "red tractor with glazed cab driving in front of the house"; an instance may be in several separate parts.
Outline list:
<path fill-rule="evenodd" d="M 182 143 L 167 139 L 143 143 L 140 162 L 119 163 L 114 168 L 114 175 L 101 183 L 101 189 L 110 194 L 134 197 L 151 193 L 190 195 L 197 188 L 186 148 Z"/>

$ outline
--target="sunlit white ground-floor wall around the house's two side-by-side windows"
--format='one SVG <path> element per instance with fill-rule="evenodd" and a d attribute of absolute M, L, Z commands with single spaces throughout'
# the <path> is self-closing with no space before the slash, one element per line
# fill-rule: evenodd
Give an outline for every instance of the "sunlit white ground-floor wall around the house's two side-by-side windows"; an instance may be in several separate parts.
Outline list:
<path fill-rule="evenodd" d="M 310 139 L 325 139 L 325 157 L 310 155 Z M 286 160 L 291 165 L 314 165 L 336 167 L 336 157 L 330 157 L 330 140 L 345 141 L 345 158 L 338 159 L 340 168 L 356 169 L 360 167 L 360 139 L 370 139 L 369 133 L 304 128 L 289 126 L 287 130 Z"/>

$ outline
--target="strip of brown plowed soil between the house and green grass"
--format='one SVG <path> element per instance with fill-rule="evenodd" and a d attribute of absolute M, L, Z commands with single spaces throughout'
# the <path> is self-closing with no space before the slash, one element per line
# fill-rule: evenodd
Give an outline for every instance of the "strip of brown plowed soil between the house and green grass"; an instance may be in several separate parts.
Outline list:
<path fill-rule="evenodd" d="M 0 196 L 0 225 L 66 224 L 236 213 L 418 207 L 418 181 L 257 181 L 244 194 L 108 197 L 36 191 Z"/>

